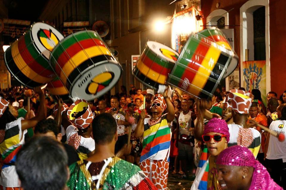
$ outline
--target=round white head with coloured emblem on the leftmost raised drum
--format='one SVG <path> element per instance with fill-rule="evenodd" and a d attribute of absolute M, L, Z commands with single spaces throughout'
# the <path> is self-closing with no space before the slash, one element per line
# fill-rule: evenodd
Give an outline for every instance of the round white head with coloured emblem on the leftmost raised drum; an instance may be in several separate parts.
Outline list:
<path fill-rule="evenodd" d="M 37 49 L 46 57 L 50 58 L 50 52 L 54 47 L 64 39 L 57 29 L 46 23 L 35 23 L 32 26 L 32 39 L 34 40 Z"/>

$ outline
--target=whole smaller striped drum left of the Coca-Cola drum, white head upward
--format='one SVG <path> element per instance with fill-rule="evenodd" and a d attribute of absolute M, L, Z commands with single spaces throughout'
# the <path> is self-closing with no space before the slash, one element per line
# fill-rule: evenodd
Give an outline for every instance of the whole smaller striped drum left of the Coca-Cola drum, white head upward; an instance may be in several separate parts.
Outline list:
<path fill-rule="evenodd" d="M 179 54 L 170 47 L 148 41 L 133 69 L 133 74 L 143 84 L 156 89 L 159 84 L 165 84 L 178 56 Z"/>

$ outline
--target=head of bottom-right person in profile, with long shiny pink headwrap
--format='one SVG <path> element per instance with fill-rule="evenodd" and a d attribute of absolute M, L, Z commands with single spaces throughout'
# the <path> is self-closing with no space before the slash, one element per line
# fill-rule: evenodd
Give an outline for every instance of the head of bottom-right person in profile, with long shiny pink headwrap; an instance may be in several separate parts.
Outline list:
<path fill-rule="evenodd" d="M 220 153 L 216 160 L 218 179 L 231 190 L 282 190 L 270 177 L 266 168 L 255 160 L 252 152 L 242 146 L 232 146 Z"/>

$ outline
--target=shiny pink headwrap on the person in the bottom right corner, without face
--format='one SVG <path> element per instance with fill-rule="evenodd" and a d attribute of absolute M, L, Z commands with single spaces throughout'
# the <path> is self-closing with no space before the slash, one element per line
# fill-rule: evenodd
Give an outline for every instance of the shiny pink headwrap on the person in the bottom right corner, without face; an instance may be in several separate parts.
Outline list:
<path fill-rule="evenodd" d="M 246 147 L 236 145 L 226 148 L 217 156 L 216 164 L 253 167 L 254 171 L 249 190 L 282 190 L 270 177 L 266 168 L 255 160 L 252 152 Z"/>

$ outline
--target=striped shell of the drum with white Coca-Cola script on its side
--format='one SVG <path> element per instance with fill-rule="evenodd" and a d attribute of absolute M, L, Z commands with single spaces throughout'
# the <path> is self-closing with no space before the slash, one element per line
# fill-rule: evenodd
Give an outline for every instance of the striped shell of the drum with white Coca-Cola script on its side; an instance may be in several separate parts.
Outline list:
<path fill-rule="evenodd" d="M 212 60 L 211 64 L 209 64 L 210 60 Z M 168 83 L 182 88 L 183 81 L 186 78 L 192 85 L 188 85 L 184 89 L 185 91 L 200 98 L 209 98 L 217 86 L 209 78 L 215 81 L 219 80 L 223 70 L 222 66 L 228 64 L 230 60 L 231 55 L 227 55 L 206 42 L 191 36 L 183 47 L 178 59 L 179 64 L 177 63 L 172 70 Z"/>

